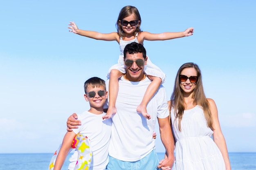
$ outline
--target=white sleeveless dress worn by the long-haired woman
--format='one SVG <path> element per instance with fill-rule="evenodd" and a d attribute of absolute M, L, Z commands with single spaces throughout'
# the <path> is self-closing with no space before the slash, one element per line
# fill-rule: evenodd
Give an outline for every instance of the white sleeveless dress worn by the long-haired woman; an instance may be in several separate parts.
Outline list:
<path fill-rule="evenodd" d="M 182 131 L 178 128 L 178 119 L 175 121 L 173 109 L 171 122 L 176 141 L 173 170 L 225 170 L 224 159 L 211 138 L 213 131 L 207 127 L 201 106 L 184 110 Z"/>

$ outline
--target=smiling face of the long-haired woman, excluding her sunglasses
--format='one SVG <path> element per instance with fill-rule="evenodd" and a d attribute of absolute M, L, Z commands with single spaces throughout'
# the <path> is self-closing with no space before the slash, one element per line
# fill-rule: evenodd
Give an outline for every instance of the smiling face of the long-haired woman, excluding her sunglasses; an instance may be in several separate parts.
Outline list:
<path fill-rule="evenodd" d="M 187 77 L 198 76 L 195 68 L 184 68 L 180 75 L 186 75 Z M 180 88 L 182 89 L 183 95 L 190 95 L 193 93 L 196 87 L 196 83 L 191 83 L 189 79 L 185 82 L 180 82 Z"/>

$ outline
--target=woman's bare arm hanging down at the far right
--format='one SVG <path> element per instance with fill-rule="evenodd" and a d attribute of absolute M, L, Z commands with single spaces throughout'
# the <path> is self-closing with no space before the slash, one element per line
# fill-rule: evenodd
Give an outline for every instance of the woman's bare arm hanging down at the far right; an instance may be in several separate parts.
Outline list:
<path fill-rule="evenodd" d="M 220 128 L 217 106 L 213 99 L 207 100 L 210 104 L 211 116 L 213 118 L 213 140 L 220 149 L 220 152 L 225 162 L 226 170 L 231 170 L 226 141 Z"/>

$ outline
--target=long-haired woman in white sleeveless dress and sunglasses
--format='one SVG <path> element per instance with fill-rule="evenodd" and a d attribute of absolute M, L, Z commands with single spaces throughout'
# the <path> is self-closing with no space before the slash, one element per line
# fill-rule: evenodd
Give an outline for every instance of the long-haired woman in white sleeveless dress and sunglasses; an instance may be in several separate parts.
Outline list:
<path fill-rule="evenodd" d="M 204 95 L 197 64 L 180 67 L 169 104 L 176 141 L 173 170 L 231 170 L 218 110 Z"/>

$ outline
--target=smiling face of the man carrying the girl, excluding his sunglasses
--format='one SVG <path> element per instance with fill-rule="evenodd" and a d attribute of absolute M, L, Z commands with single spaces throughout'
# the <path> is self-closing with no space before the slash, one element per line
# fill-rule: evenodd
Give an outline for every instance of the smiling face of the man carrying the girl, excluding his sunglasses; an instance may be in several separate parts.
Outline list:
<path fill-rule="evenodd" d="M 144 61 L 143 66 L 138 66 L 136 62 L 133 62 L 131 66 L 126 66 L 125 78 L 131 82 L 139 82 L 146 77 L 143 71 L 144 71 L 144 66 L 147 64 L 147 57 L 145 60 L 142 53 L 134 53 L 134 54 L 126 53 L 125 61 L 126 60 L 135 61 L 138 59 L 141 59 Z M 124 65 L 125 65 L 125 61 L 124 61 Z"/>

